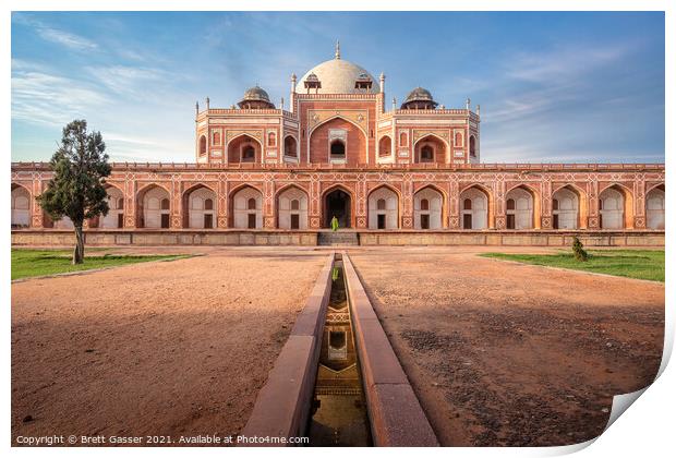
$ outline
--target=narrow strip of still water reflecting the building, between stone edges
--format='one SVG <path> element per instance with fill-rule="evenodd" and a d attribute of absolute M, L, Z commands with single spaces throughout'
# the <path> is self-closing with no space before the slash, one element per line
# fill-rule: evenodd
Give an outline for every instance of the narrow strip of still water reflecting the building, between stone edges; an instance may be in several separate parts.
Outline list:
<path fill-rule="evenodd" d="M 372 445 L 369 415 L 354 348 L 342 262 L 336 261 L 331 279 L 307 435 L 311 446 L 367 446 Z"/>

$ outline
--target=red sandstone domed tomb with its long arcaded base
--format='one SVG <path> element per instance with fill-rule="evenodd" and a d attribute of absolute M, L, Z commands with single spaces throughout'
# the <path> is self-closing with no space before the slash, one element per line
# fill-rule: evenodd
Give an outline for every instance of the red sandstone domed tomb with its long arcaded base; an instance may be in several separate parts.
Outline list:
<path fill-rule="evenodd" d="M 482 164 L 469 99 L 446 108 L 417 87 L 387 105 L 385 75 L 339 47 L 291 75 L 288 109 L 258 86 L 237 107 L 207 98 L 195 162 L 113 162 L 87 241 L 316 244 L 335 216 L 363 244 L 664 242 L 663 164 Z M 34 198 L 49 178 L 48 162 L 12 164 L 14 243 L 72 237 Z"/>

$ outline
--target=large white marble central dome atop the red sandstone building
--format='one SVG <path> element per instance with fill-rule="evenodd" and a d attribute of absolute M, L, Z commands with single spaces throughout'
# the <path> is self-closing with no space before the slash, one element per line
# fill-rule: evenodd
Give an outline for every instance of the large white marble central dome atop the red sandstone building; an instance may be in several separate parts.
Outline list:
<path fill-rule="evenodd" d="M 305 94 L 305 81 L 310 75 L 316 75 L 317 80 L 322 84 L 322 87 L 317 91 L 318 94 L 364 94 L 364 89 L 358 89 L 354 87 L 354 83 L 360 80 L 364 80 L 364 75 L 369 76 L 373 82 L 370 93 L 375 94 L 381 92 L 381 86 L 376 80 L 363 68 L 342 60 L 339 57 L 336 59 L 322 62 L 313 69 L 310 69 L 307 73 L 303 75 L 301 81 L 295 85 L 295 92 Z M 310 92 L 314 94 L 315 91 Z"/>

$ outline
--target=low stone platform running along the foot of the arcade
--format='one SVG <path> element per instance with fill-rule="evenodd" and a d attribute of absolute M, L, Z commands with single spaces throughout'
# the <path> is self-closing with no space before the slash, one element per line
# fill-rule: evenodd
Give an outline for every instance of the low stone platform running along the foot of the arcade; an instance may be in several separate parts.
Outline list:
<path fill-rule="evenodd" d="M 88 230 L 88 245 L 302 245 L 315 246 L 329 231 L 297 230 Z M 342 230 L 360 245 L 522 245 L 569 246 L 572 236 L 586 246 L 664 246 L 664 231 L 557 231 L 557 230 Z M 323 236 L 319 236 L 323 234 Z M 71 246 L 72 230 L 12 230 L 12 245 Z"/>

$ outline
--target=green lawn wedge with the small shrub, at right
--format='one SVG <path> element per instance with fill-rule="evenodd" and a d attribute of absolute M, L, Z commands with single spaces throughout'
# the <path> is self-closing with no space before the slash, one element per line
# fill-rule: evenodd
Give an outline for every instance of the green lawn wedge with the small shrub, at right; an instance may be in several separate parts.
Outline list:
<path fill-rule="evenodd" d="M 481 256 L 539 266 L 563 267 L 664 282 L 664 250 L 588 250 L 589 261 L 576 261 L 572 251 L 558 254 L 485 253 Z"/>

